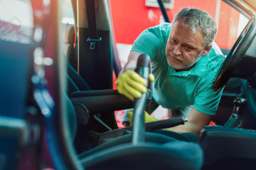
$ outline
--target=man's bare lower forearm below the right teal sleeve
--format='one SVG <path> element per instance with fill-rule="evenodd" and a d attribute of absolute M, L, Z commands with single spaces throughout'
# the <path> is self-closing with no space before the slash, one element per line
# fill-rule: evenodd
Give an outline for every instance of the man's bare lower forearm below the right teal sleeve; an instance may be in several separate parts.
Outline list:
<path fill-rule="evenodd" d="M 199 136 L 201 129 L 209 125 L 212 115 L 204 114 L 197 111 L 194 107 L 192 108 L 188 121 L 184 125 L 178 125 L 175 127 L 170 127 L 168 130 L 177 133 L 194 133 Z"/>

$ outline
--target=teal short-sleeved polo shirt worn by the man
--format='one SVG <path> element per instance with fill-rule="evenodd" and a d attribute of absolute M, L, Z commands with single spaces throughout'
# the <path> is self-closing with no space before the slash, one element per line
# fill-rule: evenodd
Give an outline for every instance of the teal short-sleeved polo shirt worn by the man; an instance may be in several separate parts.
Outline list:
<path fill-rule="evenodd" d="M 183 109 L 193 105 L 199 112 L 214 115 L 223 88 L 215 92 L 212 86 L 225 56 L 217 44 L 213 43 L 210 52 L 201 56 L 189 71 L 176 72 L 165 58 L 170 30 L 170 23 L 150 27 L 139 35 L 131 49 L 150 56 L 152 73 L 156 78 L 153 83 L 153 98 L 165 108 Z"/>

